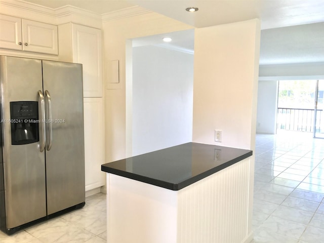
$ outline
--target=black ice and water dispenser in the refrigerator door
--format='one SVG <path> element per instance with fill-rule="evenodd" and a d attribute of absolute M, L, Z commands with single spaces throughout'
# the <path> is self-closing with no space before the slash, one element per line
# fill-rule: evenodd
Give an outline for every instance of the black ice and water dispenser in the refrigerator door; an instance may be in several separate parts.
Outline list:
<path fill-rule="evenodd" d="M 28 144 L 39 141 L 38 102 L 10 102 L 11 144 Z"/>

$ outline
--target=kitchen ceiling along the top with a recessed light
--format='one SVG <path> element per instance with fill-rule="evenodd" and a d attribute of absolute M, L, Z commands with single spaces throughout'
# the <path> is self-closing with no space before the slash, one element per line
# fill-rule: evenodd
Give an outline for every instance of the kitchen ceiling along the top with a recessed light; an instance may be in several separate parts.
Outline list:
<path fill-rule="evenodd" d="M 195 27 L 206 27 L 254 18 L 261 28 L 324 22 L 324 0 L 25 0 L 49 8 L 72 5 L 98 14 L 140 6 Z M 187 7 L 197 7 L 189 13 Z"/>

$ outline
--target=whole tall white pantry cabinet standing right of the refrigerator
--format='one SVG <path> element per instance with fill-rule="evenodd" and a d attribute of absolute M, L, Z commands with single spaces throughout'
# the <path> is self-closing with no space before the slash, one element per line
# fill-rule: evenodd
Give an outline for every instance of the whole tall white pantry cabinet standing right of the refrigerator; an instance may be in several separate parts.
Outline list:
<path fill-rule="evenodd" d="M 58 26 L 59 60 L 83 64 L 86 193 L 104 185 L 101 30 L 67 23 Z"/>

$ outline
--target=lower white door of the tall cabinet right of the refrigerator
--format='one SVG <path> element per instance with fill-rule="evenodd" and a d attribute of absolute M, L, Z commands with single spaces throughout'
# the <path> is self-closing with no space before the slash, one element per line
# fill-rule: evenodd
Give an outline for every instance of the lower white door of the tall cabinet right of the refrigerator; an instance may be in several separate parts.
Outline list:
<path fill-rule="evenodd" d="M 84 98 L 86 191 L 104 185 L 102 98 Z"/>

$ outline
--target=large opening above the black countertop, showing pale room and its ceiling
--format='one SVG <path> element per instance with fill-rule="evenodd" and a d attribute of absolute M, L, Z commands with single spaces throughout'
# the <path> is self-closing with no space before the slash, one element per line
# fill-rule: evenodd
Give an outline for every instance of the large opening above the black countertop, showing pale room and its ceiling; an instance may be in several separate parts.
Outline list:
<path fill-rule="evenodd" d="M 191 141 L 194 29 L 129 41 L 128 155 Z"/>

